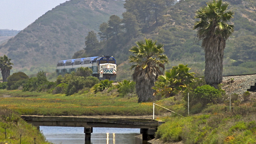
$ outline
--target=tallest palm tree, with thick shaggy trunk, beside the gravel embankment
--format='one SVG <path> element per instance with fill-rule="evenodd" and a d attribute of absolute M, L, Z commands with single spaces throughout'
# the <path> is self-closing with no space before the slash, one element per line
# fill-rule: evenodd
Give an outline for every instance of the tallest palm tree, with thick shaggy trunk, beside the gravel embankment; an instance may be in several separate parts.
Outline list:
<path fill-rule="evenodd" d="M 205 51 L 205 81 L 215 88 L 222 82 L 224 48 L 234 31 L 234 26 L 226 23 L 234 14 L 232 11 L 226 12 L 227 7 L 228 3 L 213 0 L 198 9 L 195 16 L 200 21 L 194 24 L 194 29 L 198 29 L 197 37 L 202 40 Z"/>

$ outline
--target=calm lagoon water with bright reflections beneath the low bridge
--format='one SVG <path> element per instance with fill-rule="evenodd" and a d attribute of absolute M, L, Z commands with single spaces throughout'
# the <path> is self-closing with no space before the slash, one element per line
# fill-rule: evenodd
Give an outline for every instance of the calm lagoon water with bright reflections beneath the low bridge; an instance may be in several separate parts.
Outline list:
<path fill-rule="evenodd" d="M 54 144 L 84 144 L 84 128 L 40 126 L 48 142 Z M 142 144 L 138 128 L 93 128 L 91 144 Z"/>

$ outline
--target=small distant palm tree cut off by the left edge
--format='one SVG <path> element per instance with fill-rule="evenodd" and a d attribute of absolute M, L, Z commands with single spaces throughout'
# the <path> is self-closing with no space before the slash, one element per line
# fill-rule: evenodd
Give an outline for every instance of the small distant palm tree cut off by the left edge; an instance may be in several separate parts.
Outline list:
<path fill-rule="evenodd" d="M 3 77 L 3 82 L 7 82 L 7 77 L 10 76 L 10 70 L 12 69 L 13 65 L 11 59 L 8 58 L 6 55 L 0 56 L 0 70 Z"/>

